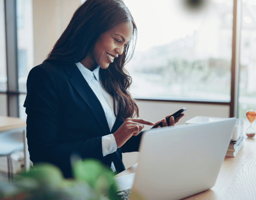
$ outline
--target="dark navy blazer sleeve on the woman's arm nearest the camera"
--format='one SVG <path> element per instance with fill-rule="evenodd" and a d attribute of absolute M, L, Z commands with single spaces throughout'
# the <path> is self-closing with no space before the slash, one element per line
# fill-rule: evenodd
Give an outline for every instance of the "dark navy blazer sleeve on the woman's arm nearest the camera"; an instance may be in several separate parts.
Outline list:
<path fill-rule="evenodd" d="M 60 97 L 53 75 L 40 67 L 30 70 L 27 79 L 27 139 L 32 162 L 50 162 L 70 168 L 70 156 L 95 158 L 104 163 L 101 137 L 61 143 Z M 71 133 L 72 134 L 72 133 Z"/>

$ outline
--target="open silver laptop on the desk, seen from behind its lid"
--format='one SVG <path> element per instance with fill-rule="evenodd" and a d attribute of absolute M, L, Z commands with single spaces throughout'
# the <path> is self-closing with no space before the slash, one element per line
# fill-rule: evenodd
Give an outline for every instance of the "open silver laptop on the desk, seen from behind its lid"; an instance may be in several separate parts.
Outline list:
<path fill-rule="evenodd" d="M 145 131 L 136 173 L 115 178 L 120 194 L 131 191 L 132 200 L 178 200 L 212 188 L 235 124 L 236 118 L 226 118 Z"/>

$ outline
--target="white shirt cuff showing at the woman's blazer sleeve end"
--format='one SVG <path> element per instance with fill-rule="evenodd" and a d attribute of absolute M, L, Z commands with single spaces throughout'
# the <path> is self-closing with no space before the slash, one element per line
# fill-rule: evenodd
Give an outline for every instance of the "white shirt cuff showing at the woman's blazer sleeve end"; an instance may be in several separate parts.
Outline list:
<path fill-rule="evenodd" d="M 117 150 L 116 140 L 113 134 L 109 134 L 102 137 L 102 154 L 112 154 Z"/>

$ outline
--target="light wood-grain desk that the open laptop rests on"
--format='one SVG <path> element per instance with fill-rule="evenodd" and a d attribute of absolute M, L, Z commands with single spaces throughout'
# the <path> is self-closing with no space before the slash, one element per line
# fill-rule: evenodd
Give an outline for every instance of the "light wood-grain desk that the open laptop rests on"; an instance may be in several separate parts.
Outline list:
<path fill-rule="evenodd" d="M 137 165 L 116 177 L 136 172 Z M 225 157 L 213 188 L 184 200 L 256 200 L 256 138 L 244 138 L 234 158 Z"/>

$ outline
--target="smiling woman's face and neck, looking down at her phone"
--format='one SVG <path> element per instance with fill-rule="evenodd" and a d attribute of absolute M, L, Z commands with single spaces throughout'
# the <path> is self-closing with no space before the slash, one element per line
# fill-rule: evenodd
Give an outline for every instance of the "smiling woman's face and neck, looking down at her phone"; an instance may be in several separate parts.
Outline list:
<path fill-rule="evenodd" d="M 121 23 L 101 34 L 94 48 L 81 62 L 89 70 L 95 69 L 100 65 L 102 69 L 107 69 L 114 59 L 121 55 L 125 45 L 131 40 L 133 33 L 133 25 L 129 23 Z"/>

